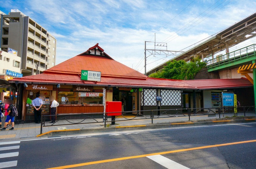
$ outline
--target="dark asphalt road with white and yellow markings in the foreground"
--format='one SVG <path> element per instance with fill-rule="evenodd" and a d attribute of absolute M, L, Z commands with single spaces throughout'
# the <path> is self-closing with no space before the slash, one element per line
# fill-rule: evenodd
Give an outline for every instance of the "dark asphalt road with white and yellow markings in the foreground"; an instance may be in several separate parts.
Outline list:
<path fill-rule="evenodd" d="M 0 142 L 0 168 L 247 169 L 255 157 L 256 123 Z"/>

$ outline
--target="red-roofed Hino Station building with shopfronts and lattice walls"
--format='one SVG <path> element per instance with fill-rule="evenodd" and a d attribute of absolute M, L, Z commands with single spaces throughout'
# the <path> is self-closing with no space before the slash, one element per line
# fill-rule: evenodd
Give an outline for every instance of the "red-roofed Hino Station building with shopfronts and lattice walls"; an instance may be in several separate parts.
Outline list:
<path fill-rule="evenodd" d="M 81 80 L 82 70 L 100 72 L 100 81 Z M 31 100 L 37 93 L 44 95 L 42 114 L 50 114 L 51 95 L 60 103 L 57 114 L 103 112 L 103 88 L 106 89 L 105 100 L 122 100 L 124 111 L 220 107 L 221 92 L 227 91 L 237 94 L 242 106 L 254 104 L 253 85 L 245 78 L 149 78 L 115 61 L 99 44 L 42 74 L 15 78 L 10 82 L 19 86 L 18 117 L 26 121 L 34 119 Z M 157 96 L 161 101 L 157 101 Z M 66 97 L 68 101 L 65 101 Z"/>

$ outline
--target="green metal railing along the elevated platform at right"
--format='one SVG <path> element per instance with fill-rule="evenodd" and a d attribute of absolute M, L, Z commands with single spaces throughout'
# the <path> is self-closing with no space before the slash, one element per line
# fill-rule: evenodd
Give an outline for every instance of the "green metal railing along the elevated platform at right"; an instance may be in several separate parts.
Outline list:
<path fill-rule="evenodd" d="M 232 66 L 238 66 L 243 63 L 249 63 L 252 60 L 255 60 L 255 49 L 256 44 L 252 44 L 211 60 L 207 60 L 207 69 L 208 71 L 216 71 Z"/>

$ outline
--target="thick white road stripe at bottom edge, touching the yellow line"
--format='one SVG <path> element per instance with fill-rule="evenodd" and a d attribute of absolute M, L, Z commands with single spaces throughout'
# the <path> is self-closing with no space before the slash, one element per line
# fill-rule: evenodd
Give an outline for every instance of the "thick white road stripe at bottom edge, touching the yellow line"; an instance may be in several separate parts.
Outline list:
<path fill-rule="evenodd" d="M 154 162 L 157 162 L 160 165 L 163 165 L 164 167 L 168 169 L 189 169 L 185 167 L 184 165 L 181 165 L 175 161 L 172 161 L 162 155 L 152 155 L 147 156 L 149 159 L 153 160 Z"/>

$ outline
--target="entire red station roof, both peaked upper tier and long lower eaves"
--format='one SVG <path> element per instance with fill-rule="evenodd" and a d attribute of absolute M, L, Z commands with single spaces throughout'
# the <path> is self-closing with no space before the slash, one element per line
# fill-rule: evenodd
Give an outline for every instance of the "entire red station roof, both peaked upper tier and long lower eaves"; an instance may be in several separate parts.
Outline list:
<path fill-rule="evenodd" d="M 96 48 L 97 47 L 97 48 Z M 91 52 L 90 52 L 91 51 Z M 149 78 L 108 56 L 96 44 L 86 52 L 68 59 L 42 74 L 24 76 L 10 81 L 41 84 L 77 84 L 98 86 L 154 87 L 170 89 L 227 89 L 253 86 L 247 79 L 172 80 Z M 94 53 L 94 54 L 92 54 Z M 96 54 L 95 54 L 96 53 Z M 81 70 L 100 71 L 101 82 L 81 80 Z"/>

